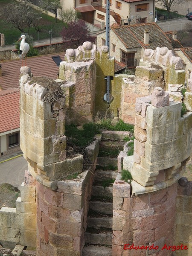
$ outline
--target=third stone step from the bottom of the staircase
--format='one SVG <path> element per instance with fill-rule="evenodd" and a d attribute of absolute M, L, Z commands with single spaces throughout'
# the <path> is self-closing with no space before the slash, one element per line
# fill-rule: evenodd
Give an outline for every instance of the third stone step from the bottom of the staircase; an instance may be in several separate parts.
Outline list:
<path fill-rule="evenodd" d="M 113 227 L 113 218 L 112 217 L 88 217 L 87 218 L 87 227 L 95 228 L 112 228 Z"/>

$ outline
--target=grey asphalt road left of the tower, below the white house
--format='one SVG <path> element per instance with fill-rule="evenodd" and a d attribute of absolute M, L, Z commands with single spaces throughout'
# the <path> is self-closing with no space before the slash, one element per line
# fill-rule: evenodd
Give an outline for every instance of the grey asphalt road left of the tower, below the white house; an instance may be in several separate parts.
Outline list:
<path fill-rule="evenodd" d="M 20 186 L 24 181 L 25 170 L 28 170 L 28 166 L 23 156 L 0 163 L 0 184 L 9 183 L 15 187 Z"/>

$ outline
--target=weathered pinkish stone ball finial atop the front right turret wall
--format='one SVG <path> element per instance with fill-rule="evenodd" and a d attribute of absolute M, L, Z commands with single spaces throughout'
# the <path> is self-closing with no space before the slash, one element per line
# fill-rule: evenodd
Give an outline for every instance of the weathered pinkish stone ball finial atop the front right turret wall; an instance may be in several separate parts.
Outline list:
<path fill-rule="evenodd" d="M 161 87 L 155 87 L 151 95 L 151 105 L 156 108 L 169 106 L 169 93 Z"/>

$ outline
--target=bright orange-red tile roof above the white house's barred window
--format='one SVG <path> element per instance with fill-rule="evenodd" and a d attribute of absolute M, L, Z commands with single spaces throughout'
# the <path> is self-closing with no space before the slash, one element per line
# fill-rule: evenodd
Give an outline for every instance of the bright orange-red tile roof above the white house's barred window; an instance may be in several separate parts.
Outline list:
<path fill-rule="evenodd" d="M 20 127 L 19 99 L 20 93 L 17 89 L 0 92 L 0 133 Z"/>

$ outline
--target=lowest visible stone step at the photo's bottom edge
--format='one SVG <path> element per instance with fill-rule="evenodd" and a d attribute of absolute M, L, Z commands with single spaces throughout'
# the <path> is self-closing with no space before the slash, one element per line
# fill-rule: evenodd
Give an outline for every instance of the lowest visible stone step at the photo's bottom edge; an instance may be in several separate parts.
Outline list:
<path fill-rule="evenodd" d="M 82 256 L 111 256 L 111 247 L 101 245 L 84 246 Z"/>

